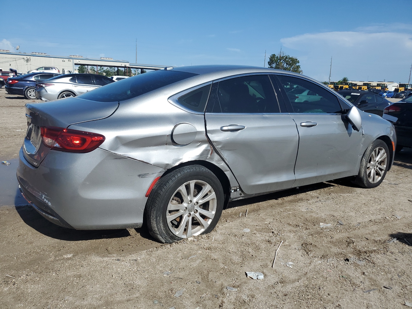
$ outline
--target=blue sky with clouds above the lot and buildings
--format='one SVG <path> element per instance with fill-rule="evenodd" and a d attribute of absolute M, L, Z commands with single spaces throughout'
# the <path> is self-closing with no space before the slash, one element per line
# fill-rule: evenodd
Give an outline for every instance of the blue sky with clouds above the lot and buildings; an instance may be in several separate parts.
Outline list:
<path fill-rule="evenodd" d="M 412 63 L 411 0 L 23 0 L 1 8 L 10 22 L 0 49 L 27 53 L 133 63 L 137 38 L 138 63 L 263 66 L 265 50 L 282 48 L 321 81 L 331 56 L 332 80 L 407 82 Z"/>

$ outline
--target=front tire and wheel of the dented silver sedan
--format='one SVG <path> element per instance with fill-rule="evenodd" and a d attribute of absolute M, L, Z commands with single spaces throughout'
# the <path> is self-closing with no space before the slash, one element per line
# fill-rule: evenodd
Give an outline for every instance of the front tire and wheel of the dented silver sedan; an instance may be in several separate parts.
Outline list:
<path fill-rule="evenodd" d="M 382 183 L 389 167 L 389 148 L 383 140 L 375 140 L 366 149 L 355 183 L 363 188 L 375 188 Z"/>

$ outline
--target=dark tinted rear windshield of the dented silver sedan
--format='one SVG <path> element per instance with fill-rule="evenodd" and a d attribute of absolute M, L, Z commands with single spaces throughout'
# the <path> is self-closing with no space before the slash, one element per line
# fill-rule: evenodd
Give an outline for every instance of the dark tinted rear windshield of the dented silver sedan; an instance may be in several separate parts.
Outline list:
<path fill-rule="evenodd" d="M 115 102 L 135 98 L 155 89 L 173 84 L 197 74 L 158 70 L 119 80 L 78 96 L 85 100 Z"/>

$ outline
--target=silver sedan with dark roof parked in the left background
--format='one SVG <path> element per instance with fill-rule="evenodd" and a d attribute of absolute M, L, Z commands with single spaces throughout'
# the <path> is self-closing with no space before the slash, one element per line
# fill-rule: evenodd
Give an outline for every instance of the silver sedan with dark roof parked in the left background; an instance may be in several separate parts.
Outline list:
<path fill-rule="evenodd" d="M 103 75 L 65 74 L 36 83 L 36 97 L 42 101 L 53 101 L 78 96 L 98 87 L 114 82 Z"/>

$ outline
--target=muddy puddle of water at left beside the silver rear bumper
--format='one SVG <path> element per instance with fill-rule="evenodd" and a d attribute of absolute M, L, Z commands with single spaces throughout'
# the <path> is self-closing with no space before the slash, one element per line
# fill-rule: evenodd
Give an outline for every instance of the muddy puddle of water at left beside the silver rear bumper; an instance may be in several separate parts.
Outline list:
<path fill-rule="evenodd" d="M 10 165 L 0 164 L 0 206 L 27 205 L 27 201 L 21 196 L 16 178 L 19 159 L 12 159 L 9 162 Z"/>

